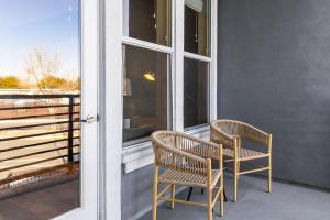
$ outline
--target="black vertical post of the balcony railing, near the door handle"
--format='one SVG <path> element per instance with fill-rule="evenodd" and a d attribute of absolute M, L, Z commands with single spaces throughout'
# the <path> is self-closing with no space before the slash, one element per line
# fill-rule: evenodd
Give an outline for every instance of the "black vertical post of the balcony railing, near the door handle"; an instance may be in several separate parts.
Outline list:
<path fill-rule="evenodd" d="M 74 96 L 69 96 L 69 119 L 68 119 L 68 135 L 67 135 L 67 151 L 68 162 L 74 162 Z"/>

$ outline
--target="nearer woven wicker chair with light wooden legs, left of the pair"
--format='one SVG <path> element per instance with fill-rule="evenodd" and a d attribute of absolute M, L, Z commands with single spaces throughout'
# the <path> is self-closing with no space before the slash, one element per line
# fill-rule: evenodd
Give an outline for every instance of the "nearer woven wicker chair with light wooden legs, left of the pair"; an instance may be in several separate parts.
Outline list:
<path fill-rule="evenodd" d="M 169 201 L 205 207 L 208 210 L 208 220 L 212 219 L 212 208 L 220 200 L 220 216 L 223 216 L 223 175 L 222 175 L 222 145 L 205 142 L 194 136 L 173 132 L 157 131 L 151 136 L 155 154 L 153 183 L 153 220 L 156 220 L 157 201 Z M 218 155 L 219 169 L 211 168 L 210 155 Z M 158 174 L 158 168 L 165 170 Z M 167 185 L 158 193 L 158 184 Z M 176 185 L 207 188 L 207 202 L 193 202 L 175 198 Z M 217 186 L 218 185 L 218 186 Z M 163 195 L 172 189 L 170 198 Z M 217 189 L 213 198 L 212 190 Z"/>

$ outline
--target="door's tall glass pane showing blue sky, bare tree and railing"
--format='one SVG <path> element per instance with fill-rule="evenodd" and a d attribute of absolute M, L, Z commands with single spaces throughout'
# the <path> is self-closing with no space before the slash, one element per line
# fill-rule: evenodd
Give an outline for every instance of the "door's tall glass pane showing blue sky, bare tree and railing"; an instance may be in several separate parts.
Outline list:
<path fill-rule="evenodd" d="M 51 219 L 80 206 L 79 1 L 0 4 L 0 219 Z"/>

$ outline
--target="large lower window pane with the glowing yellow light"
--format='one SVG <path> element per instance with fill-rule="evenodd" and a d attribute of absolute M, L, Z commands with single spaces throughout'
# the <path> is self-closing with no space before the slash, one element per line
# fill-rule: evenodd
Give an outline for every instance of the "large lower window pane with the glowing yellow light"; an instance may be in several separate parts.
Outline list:
<path fill-rule="evenodd" d="M 123 142 L 167 129 L 168 55 L 123 46 Z"/>

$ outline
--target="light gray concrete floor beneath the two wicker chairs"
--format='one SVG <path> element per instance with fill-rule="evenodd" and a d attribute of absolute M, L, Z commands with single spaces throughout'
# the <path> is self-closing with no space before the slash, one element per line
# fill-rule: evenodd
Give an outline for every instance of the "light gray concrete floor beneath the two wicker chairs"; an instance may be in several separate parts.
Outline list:
<path fill-rule="evenodd" d="M 239 201 L 231 201 L 232 180 L 227 177 L 228 202 L 224 204 L 224 217 L 219 217 L 219 202 L 213 219 L 226 220 L 329 220 L 330 193 L 284 183 L 273 183 L 273 193 L 268 194 L 266 180 L 250 176 L 240 177 Z M 188 190 L 178 195 L 187 198 Z M 206 195 L 195 189 L 191 200 L 205 201 Z M 206 210 L 198 207 L 176 205 L 170 210 L 166 204 L 160 205 L 157 220 L 205 220 Z M 140 218 L 151 220 L 151 212 Z"/>

